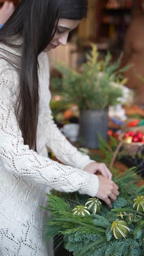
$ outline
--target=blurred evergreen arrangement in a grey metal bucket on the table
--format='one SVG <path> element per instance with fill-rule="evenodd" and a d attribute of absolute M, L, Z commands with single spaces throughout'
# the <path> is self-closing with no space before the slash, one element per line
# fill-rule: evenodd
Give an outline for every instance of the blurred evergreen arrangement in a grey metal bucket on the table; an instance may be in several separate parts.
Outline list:
<path fill-rule="evenodd" d="M 55 68 L 62 73 L 62 78 L 54 78 L 53 88 L 61 92 L 64 103 L 75 103 L 80 108 L 80 140 L 84 147 L 98 148 L 98 133 L 107 138 L 108 108 L 119 103 L 122 97 L 121 84 L 127 82 L 118 69 L 121 57 L 111 63 L 107 53 L 104 60 L 98 60 L 97 46 L 87 54 L 87 61 L 79 72 L 73 71 L 61 62 Z"/>

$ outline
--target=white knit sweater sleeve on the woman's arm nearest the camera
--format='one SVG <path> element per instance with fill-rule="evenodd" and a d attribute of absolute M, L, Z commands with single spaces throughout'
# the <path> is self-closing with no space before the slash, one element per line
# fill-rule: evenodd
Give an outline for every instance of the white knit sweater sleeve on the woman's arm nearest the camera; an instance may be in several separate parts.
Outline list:
<path fill-rule="evenodd" d="M 10 69 L 0 72 L 0 168 L 59 191 L 95 196 L 99 187 L 97 176 L 58 164 L 23 143 L 13 103 L 13 88 L 18 83 L 16 72 Z"/>

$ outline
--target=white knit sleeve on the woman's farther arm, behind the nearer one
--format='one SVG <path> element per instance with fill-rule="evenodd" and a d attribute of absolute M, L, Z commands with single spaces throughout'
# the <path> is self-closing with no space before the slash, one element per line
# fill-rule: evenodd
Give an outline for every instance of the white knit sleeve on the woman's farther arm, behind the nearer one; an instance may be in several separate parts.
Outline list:
<path fill-rule="evenodd" d="M 53 121 L 51 109 L 45 113 L 45 136 L 46 146 L 56 155 L 56 158 L 63 164 L 83 169 L 90 162 L 93 162 L 88 155 L 82 154 L 76 147 L 65 138 Z"/>

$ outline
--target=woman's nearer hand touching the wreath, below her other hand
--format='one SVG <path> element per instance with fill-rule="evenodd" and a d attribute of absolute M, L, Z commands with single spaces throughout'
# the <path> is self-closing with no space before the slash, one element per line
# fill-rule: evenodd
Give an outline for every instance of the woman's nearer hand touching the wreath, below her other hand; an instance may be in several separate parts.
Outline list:
<path fill-rule="evenodd" d="M 97 177 L 99 179 L 99 189 L 96 196 L 103 200 L 109 207 L 112 207 L 111 202 L 115 201 L 119 195 L 118 185 L 101 175 Z"/>

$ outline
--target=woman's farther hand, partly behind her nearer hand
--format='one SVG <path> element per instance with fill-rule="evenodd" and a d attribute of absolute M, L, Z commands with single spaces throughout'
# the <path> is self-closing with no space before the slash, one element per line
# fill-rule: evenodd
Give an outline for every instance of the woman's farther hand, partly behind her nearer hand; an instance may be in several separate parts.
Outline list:
<path fill-rule="evenodd" d="M 99 171 L 104 178 L 112 179 L 112 173 L 106 167 L 106 165 L 101 162 L 91 162 L 90 164 L 86 165 L 83 170 L 92 174 L 95 174 Z"/>

